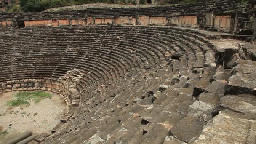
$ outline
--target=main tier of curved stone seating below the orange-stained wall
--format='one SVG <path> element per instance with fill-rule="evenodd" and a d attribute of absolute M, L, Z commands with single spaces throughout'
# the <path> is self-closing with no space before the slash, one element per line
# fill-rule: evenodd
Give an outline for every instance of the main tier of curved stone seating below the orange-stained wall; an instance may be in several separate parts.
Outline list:
<path fill-rule="evenodd" d="M 232 80 L 243 67 L 254 69 L 254 63 L 238 60 L 231 73 L 222 69 L 210 38 L 176 27 L 3 29 L 0 84 L 4 91 L 63 95 L 69 109 L 46 144 L 207 143 L 221 132 L 206 132 L 212 127 L 229 131 L 227 123 L 250 137 L 241 143 L 251 142 L 253 86 L 250 93 L 230 93 L 229 87 L 247 83 L 248 73 L 243 83 Z M 229 132 L 223 141 L 234 143 L 236 131 Z"/>

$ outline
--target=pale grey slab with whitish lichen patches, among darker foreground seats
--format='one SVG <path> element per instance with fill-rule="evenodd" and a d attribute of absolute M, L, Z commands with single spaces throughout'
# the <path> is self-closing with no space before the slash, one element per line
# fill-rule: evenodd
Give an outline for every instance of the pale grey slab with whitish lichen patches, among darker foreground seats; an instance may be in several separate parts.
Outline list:
<path fill-rule="evenodd" d="M 187 115 L 192 117 L 197 117 L 204 121 L 209 121 L 212 118 L 214 106 L 207 104 L 203 101 L 195 101 L 192 105 L 188 107 Z"/>

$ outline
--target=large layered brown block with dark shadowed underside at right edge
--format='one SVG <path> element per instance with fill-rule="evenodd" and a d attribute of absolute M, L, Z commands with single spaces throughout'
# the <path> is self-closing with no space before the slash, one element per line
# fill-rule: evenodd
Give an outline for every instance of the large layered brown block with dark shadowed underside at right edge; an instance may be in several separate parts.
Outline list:
<path fill-rule="evenodd" d="M 255 94 L 256 95 L 256 62 L 237 60 L 237 66 L 232 69 L 229 83 L 224 87 L 225 94 Z"/>

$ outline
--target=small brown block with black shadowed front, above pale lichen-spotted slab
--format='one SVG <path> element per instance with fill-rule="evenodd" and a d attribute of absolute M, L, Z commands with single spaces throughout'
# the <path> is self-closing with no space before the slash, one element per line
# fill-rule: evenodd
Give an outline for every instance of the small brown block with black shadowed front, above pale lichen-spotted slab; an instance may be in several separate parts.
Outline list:
<path fill-rule="evenodd" d="M 208 85 L 210 84 L 209 79 L 200 79 L 199 82 L 194 87 L 193 96 L 197 97 L 200 93 L 203 93 Z"/>

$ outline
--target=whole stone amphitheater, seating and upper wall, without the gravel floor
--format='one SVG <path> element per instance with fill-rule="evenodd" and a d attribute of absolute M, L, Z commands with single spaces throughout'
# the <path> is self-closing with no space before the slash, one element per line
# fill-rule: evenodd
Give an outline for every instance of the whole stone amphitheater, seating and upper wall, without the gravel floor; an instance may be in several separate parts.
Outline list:
<path fill-rule="evenodd" d="M 63 96 L 45 144 L 256 144 L 254 8 L 2 12 L 0 91 Z"/>

